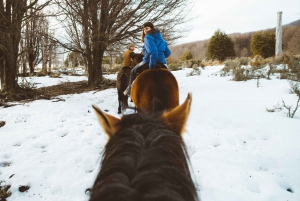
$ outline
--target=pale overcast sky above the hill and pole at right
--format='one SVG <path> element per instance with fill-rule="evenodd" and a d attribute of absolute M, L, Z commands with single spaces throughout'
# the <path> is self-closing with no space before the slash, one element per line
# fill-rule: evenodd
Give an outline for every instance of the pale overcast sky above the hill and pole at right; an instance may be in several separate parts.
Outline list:
<path fill-rule="evenodd" d="M 246 33 L 276 27 L 277 12 L 282 24 L 300 19 L 300 0 L 195 0 L 192 15 L 198 17 L 186 27 L 190 31 L 177 44 L 209 39 L 217 29 Z"/>

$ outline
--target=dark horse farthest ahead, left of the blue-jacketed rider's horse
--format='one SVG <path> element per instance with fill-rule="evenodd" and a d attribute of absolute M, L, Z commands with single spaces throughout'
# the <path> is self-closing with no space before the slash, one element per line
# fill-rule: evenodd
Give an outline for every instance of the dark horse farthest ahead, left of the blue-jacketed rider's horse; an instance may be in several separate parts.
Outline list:
<path fill-rule="evenodd" d="M 122 70 L 118 72 L 117 75 L 116 85 L 118 90 L 118 101 L 119 101 L 118 114 L 120 114 L 122 110 L 128 107 L 128 96 L 125 96 L 123 92 L 125 91 L 125 89 L 129 84 L 131 69 L 142 61 L 143 54 L 135 54 L 134 52 L 132 52 L 130 54 L 130 58 L 132 59 L 131 67 L 124 66 Z"/>

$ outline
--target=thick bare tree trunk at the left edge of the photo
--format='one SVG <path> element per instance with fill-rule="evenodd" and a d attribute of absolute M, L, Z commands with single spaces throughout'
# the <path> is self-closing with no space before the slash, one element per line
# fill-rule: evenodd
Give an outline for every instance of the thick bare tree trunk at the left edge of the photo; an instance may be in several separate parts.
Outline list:
<path fill-rule="evenodd" d="M 44 1 L 45 2 L 45 1 Z M 0 79 L 1 93 L 19 93 L 17 84 L 17 59 L 23 21 L 31 16 L 25 15 L 28 9 L 43 9 L 50 1 L 36 6 L 38 0 L 0 1 Z"/>

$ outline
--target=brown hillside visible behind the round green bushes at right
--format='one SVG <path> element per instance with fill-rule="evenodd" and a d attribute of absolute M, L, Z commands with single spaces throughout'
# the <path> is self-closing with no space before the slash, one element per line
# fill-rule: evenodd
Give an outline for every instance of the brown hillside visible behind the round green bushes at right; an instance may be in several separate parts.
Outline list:
<path fill-rule="evenodd" d="M 265 29 L 262 31 L 275 32 L 275 30 L 276 27 L 271 29 Z M 283 25 L 282 31 L 283 51 L 290 52 L 293 54 L 300 54 L 300 19 L 293 21 L 289 24 Z M 252 40 L 252 35 L 256 32 L 257 31 L 227 34 L 229 37 L 232 38 L 235 44 L 235 51 L 237 57 L 248 57 L 252 55 L 250 51 L 250 43 Z M 184 52 L 190 51 L 194 59 L 204 59 L 208 43 L 209 39 L 206 39 L 170 46 L 170 49 L 172 51 L 171 58 L 173 60 L 179 59 Z"/>

